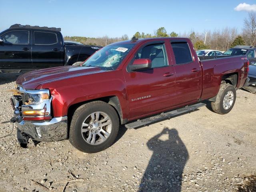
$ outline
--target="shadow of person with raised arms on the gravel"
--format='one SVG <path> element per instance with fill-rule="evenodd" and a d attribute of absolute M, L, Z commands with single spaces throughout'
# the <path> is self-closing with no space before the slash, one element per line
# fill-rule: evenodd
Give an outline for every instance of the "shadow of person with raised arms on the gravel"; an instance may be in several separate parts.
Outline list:
<path fill-rule="evenodd" d="M 164 130 L 147 142 L 153 155 L 141 180 L 139 192 L 180 192 L 188 151 L 175 128 Z"/>

